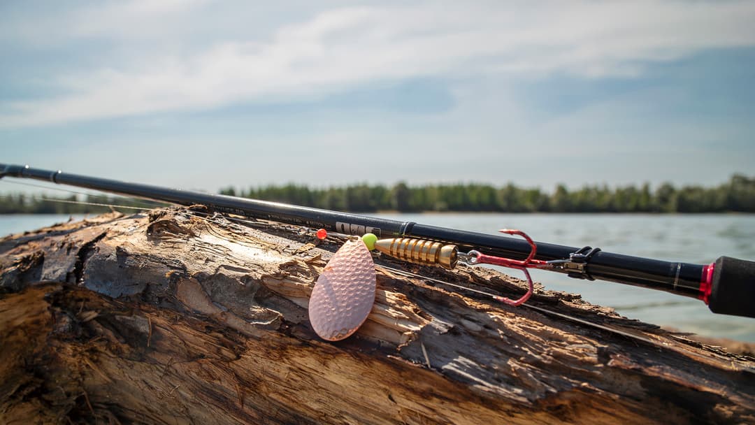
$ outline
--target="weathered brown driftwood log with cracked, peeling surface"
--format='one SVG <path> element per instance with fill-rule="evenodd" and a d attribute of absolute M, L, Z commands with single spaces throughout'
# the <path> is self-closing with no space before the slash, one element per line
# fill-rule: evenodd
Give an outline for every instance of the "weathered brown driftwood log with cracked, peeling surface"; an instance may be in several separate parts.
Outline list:
<path fill-rule="evenodd" d="M 205 212 L 0 239 L 0 423 L 755 423 L 752 356 L 543 288 L 530 304 L 637 338 L 377 269 L 365 325 L 319 340 L 307 300 L 338 241 Z"/>

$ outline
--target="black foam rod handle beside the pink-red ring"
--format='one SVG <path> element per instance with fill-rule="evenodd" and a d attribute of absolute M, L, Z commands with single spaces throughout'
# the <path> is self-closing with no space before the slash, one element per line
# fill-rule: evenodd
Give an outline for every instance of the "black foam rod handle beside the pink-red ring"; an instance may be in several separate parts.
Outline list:
<path fill-rule="evenodd" d="M 708 308 L 713 313 L 755 317 L 755 262 L 732 257 L 716 260 Z"/>

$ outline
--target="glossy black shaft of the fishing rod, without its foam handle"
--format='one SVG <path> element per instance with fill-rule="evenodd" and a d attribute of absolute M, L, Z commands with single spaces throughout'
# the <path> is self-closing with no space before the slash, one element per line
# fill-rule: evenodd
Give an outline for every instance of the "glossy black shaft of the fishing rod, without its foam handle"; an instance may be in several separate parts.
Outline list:
<path fill-rule="evenodd" d="M 414 237 L 432 239 L 454 243 L 459 245 L 459 248 L 462 251 L 476 249 L 483 254 L 510 257 L 519 260 L 525 258 L 530 250 L 527 242 L 508 236 L 488 235 L 466 230 L 448 229 L 439 226 L 427 226 L 420 223 L 368 217 L 361 214 L 328 211 L 319 208 L 282 204 L 279 202 L 214 195 L 180 189 L 168 189 L 165 187 L 150 186 L 141 183 L 125 183 L 118 180 L 30 168 L 28 165 L 0 164 L 0 170 L 2 170 L 0 171 L 0 177 L 8 176 L 45 180 L 51 181 L 52 183 L 97 189 L 119 195 L 135 196 L 144 199 L 170 202 L 178 205 L 202 204 L 224 213 L 239 214 L 257 219 L 273 220 L 280 223 L 297 224 L 313 228 L 322 227 L 326 230 L 338 233 L 361 236 L 364 233 L 371 232 L 379 237 L 385 238 Z M 569 254 L 578 250 L 578 248 L 575 247 L 554 245 L 544 242 L 536 243 L 538 245 L 538 254 L 536 258 L 538 260 L 565 259 L 569 258 Z M 661 291 L 669 291 L 688 297 L 700 297 L 704 267 L 705 266 L 700 264 L 652 260 L 649 258 L 632 257 L 629 255 L 599 251 L 590 258 L 590 261 L 586 266 L 586 271 L 587 276 L 591 276 L 594 279 L 638 285 Z M 755 279 L 750 280 L 755 281 Z M 741 302 L 741 300 L 739 301 Z M 753 305 L 753 303 L 749 303 L 749 305 Z M 713 310 L 713 306 L 711 306 L 711 310 Z M 753 311 L 748 311 L 744 314 L 726 314 L 755 316 L 755 309 L 749 310 Z M 724 312 L 722 311 L 721 313 Z"/>

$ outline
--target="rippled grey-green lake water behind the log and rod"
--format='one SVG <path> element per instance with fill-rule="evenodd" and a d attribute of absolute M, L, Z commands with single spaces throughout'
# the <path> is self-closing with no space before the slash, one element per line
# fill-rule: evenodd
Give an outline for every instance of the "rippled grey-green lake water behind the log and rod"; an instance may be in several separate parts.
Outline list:
<path fill-rule="evenodd" d="M 603 251 L 711 263 L 727 255 L 755 260 L 755 215 L 655 214 L 375 214 L 395 220 L 496 233 L 521 229 L 533 239 L 559 245 L 599 246 Z M 0 235 L 37 229 L 68 220 L 67 215 L 0 216 Z M 516 276 L 515 270 L 508 270 Z M 581 294 L 585 300 L 614 307 L 644 322 L 709 337 L 755 342 L 755 319 L 716 315 L 700 300 L 621 285 L 571 279 L 533 270 L 546 288 Z M 755 308 L 755 306 L 753 306 Z"/>

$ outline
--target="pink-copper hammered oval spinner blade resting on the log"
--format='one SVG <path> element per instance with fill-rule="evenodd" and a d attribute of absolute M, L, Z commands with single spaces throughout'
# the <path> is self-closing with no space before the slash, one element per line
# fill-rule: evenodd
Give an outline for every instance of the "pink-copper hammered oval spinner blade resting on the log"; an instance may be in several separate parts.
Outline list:
<path fill-rule="evenodd" d="M 365 322 L 375 300 L 375 267 L 361 240 L 350 240 L 325 265 L 310 297 L 310 322 L 324 340 L 343 340 Z"/>

